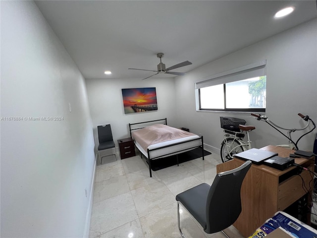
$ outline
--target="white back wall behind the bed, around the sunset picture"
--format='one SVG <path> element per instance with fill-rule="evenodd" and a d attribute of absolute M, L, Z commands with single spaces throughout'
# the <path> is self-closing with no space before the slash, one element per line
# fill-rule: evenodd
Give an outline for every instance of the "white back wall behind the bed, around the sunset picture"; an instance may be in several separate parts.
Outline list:
<path fill-rule="evenodd" d="M 176 119 L 175 86 L 171 78 L 86 79 L 86 85 L 97 147 L 97 125 L 111 124 L 116 146 L 118 139 L 130 137 L 129 123 L 167 118 L 168 125 L 182 126 Z M 124 114 L 121 89 L 147 87 L 156 87 L 158 111 Z"/>

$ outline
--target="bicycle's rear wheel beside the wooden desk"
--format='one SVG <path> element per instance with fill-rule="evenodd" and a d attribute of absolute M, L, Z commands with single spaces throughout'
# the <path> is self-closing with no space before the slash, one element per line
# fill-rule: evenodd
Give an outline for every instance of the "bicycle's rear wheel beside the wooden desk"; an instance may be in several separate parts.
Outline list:
<path fill-rule="evenodd" d="M 227 143 L 225 143 L 225 141 L 222 142 L 220 148 L 220 156 L 223 163 L 232 160 L 234 154 L 238 154 L 246 150 L 237 139 L 227 138 L 226 141 Z"/>

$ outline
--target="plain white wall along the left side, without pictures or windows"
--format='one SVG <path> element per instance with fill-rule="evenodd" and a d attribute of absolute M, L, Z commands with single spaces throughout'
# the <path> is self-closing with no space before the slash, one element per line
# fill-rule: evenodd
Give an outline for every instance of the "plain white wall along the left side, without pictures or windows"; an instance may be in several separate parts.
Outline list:
<path fill-rule="evenodd" d="M 87 236 L 95 157 L 85 80 L 33 1 L 0 4 L 0 237 Z"/>

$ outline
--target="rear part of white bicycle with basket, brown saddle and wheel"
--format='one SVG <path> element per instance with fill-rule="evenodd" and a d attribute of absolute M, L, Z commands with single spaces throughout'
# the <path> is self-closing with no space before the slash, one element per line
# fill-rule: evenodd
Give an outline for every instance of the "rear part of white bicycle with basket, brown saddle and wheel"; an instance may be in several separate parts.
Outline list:
<path fill-rule="evenodd" d="M 235 154 L 252 148 L 249 132 L 256 127 L 245 124 L 244 119 L 220 117 L 220 125 L 223 128 L 223 141 L 220 148 L 222 162 L 232 160 Z M 243 140 L 245 135 L 248 137 L 247 141 Z"/>

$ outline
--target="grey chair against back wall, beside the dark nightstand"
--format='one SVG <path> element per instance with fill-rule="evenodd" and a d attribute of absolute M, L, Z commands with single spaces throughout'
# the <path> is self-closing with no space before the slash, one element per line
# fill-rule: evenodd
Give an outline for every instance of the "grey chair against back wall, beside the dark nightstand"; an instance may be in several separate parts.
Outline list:
<path fill-rule="evenodd" d="M 113 141 L 110 124 L 98 125 L 97 128 L 98 128 L 98 138 L 99 138 L 98 154 L 99 154 L 100 164 L 102 164 L 102 162 L 103 162 L 102 158 L 106 157 L 106 156 L 115 155 L 115 159 L 117 159 L 116 151 L 115 151 L 115 144 Z M 110 155 L 104 155 L 102 157 L 100 156 L 101 150 L 106 150 L 106 149 L 111 149 L 111 148 L 114 148 L 115 153 L 112 153 Z"/>

